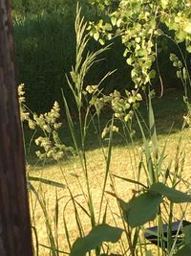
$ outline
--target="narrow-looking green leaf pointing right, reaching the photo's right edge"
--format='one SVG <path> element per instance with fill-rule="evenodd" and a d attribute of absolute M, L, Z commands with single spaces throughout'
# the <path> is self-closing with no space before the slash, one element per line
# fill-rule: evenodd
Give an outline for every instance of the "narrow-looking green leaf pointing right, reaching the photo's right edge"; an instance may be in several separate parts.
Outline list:
<path fill-rule="evenodd" d="M 183 192 L 180 192 L 174 188 L 169 188 L 161 182 L 154 183 L 150 189 L 150 192 L 156 192 L 160 195 L 168 198 L 170 201 L 175 203 L 180 202 L 191 202 L 191 197 Z"/>

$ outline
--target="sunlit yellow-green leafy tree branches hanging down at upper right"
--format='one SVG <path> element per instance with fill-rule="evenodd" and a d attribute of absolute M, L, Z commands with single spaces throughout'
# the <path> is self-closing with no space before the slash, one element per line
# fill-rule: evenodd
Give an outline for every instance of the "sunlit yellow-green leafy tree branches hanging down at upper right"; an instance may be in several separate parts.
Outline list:
<path fill-rule="evenodd" d="M 153 63 L 161 50 L 160 38 L 185 42 L 191 52 L 191 9 L 189 0 L 90 0 L 103 10 L 107 20 L 90 23 L 91 35 L 101 44 L 121 36 L 124 57 L 132 66 L 135 87 L 145 87 L 156 75 Z M 108 20 L 109 17 L 109 20 Z M 161 37 L 162 36 L 162 37 Z"/>

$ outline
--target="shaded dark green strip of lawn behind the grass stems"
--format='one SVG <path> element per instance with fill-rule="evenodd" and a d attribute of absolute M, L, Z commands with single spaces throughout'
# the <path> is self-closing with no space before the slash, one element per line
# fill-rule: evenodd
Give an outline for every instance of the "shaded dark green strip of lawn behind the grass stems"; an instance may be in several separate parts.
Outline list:
<path fill-rule="evenodd" d="M 180 131 L 182 123 L 183 123 L 183 115 L 186 112 L 185 105 L 183 104 L 183 92 L 178 90 L 172 90 L 165 93 L 162 98 L 155 98 L 153 100 L 153 108 L 156 118 L 156 127 L 158 135 L 167 135 L 173 134 Z M 140 105 L 140 114 L 147 124 L 147 105 L 142 103 Z M 103 113 L 100 118 L 100 130 L 105 128 L 106 124 L 110 120 L 112 116 L 111 112 Z M 97 127 L 97 122 L 95 121 L 95 125 Z M 118 124 L 119 130 L 121 129 L 121 125 Z M 134 122 L 133 128 L 136 130 L 136 136 L 134 138 L 135 143 L 141 143 L 141 134 L 138 128 L 138 124 Z M 80 133 L 79 133 L 79 125 L 74 123 L 75 136 L 80 141 Z M 66 124 L 63 124 L 63 128 L 60 128 L 60 138 L 64 145 L 69 147 L 74 147 L 73 139 L 70 133 L 70 129 Z M 39 133 L 36 133 L 35 138 L 39 136 Z M 148 133 L 147 133 L 148 135 Z M 35 155 L 35 151 L 39 150 L 39 148 L 35 145 L 34 140 L 32 139 L 32 131 L 26 130 L 26 149 L 27 149 L 27 160 L 30 164 L 42 165 L 42 162 L 39 161 Z M 107 147 L 108 140 L 102 140 L 102 146 Z M 113 146 L 114 147 L 124 147 L 127 145 L 131 145 L 131 139 L 127 135 L 127 141 L 124 140 L 120 135 L 114 133 Z M 98 140 L 98 134 L 96 132 L 93 124 L 88 129 L 87 138 L 86 138 L 86 151 L 93 151 L 100 147 L 100 143 Z M 69 156 L 70 157 L 70 156 Z M 47 161 L 46 165 L 52 165 L 53 161 Z"/>

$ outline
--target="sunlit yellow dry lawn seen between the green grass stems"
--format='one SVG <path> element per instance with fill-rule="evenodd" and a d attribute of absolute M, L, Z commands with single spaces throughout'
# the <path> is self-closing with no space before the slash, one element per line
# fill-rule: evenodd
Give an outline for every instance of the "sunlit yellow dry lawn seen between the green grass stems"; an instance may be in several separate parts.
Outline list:
<path fill-rule="evenodd" d="M 160 135 L 159 136 L 159 145 L 164 144 L 166 139 L 168 139 L 168 147 L 167 154 L 165 159 L 165 167 L 168 166 L 169 160 L 176 159 L 176 151 L 178 140 L 180 137 L 180 132 L 174 133 L 170 136 Z M 182 135 L 182 145 L 181 150 L 186 152 L 184 168 L 183 168 L 183 178 L 186 180 L 190 180 L 191 175 L 191 131 L 186 130 Z M 128 177 L 132 179 L 137 178 L 137 170 L 138 170 L 138 161 L 140 155 L 140 146 L 135 147 L 115 147 L 112 151 L 112 162 L 110 167 L 110 174 L 120 175 L 123 177 Z M 89 170 L 89 181 L 91 185 L 91 192 L 94 198 L 94 207 L 96 212 L 96 221 L 98 219 L 99 213 L 99 204 L 101 191 L 103 186 L 103 180 L 106 170 L 106 164 L 104 161 L 103 154 L 100 150 L 96 149 L 94 151 L 87 151 L 87 163 Z M 175 162 L 173 163 L 173 165 Z M 30 175 L 34 176 L 42 176 L 44 178 L 49 178 L 54 181 L 62 182 L 64 184 L 67 183 L 68 188 L 70 188 L 76 200 L 83 205 L 87 209 L 87 204 L 85 198 L 81 195 L 81 189 L 83 189 L 86 193 L 86 181 L 81 170 L 80 162 L 78 159 L 71 159 L 70 161 L 63 162 L 61 164 L 57 164 L 54 166 L 45 166 L 42 169 L 40 167 L 34 168 L 32 167 L 30 170 Z M 141 182 L 146 182 L 144 175 L 141 176 Z M 127 183 L 121 179 L 114 180 L 115 183 L 112 183 L 111 179 L 108 179 L 106 190 L 112 192 L 113 185 L 116 185 L 117 196 L 119 198 L 123 198 L 127 201 L 132 197 L 132 190 L 135 189 L 135 185 Z M 54 207 L 55 207 L 55 188 L 48 185 L 40 185 L 37 182 L 33 182 L 35 188 L 39 189 L 39 193 L 44 195 L 44 198 L 47 202 L 47 208 L 49 211 L 49 217 L 52 219 L 53 224 L 53 215 L 54 215 Z M 58 241 L 60 250 L 69 251 L 69 247 L 66 242 L 66 235 L 64 232 L 63 225 L 63 214 L 66 218 L 66 222 L 68 224 L 71 242 L 74 242 L 74 239 L 78 236 L 78 231 L 76 228 L 76 221 L 74 218 L 74 206 L 72 201 L 70 200 L 69 190 L 66 188 L 65 190 L 56 189 L 57 197 L 61 198 L 59 200 L 59 224 L 58 224 Z M 183 190 L 184 188 L 180 188 Z M 111 224 L 121 225 L 120 218 L 118 217 L 118 207 L 116 199 L 111 197 L 108 194 L 105 194 L 105 201 L 109 202 L 108 208 L 108 216 L 107 222 Z M 38 203 L 35 203 L 35 199 L 31 197 L 31 204 L 35 205 L 35 208 L 32 211 L 32 219 L 35 223 L 35 227 L 38 233 L 38 239 L 40 244 L 47 244 L 47 230 L 45 225 L 45 220 L 43 216 L 43 212 L 40 209 Z M 65 207 L 66 206 L 66 207 Z M 103 208 L 104 209 L 104 208 Z M 91 229 L 91 221 L 90 218 L 87 217 L 84 212 L 80 209 L 80 218 L 83 223 L 84 232 L 87 233 Z M 64 211 L 64 212 L 63 212 Z M 103 214 L 103 212 L 102 212 Z M 180 218 L 180 210 L 176 211 L 176 218 Z M 188 214 L 186 216 L 188 220 L 191 221 L 191 215 Z M 115 247 L 116 250 L 118 246 Z M 114 252 L 114 251 L 113 251 Z M 45 249 L 41 247 L 40 256 L 49 255 L 49 249 Z M 60 254 L 62 255 L 62 254 Z"/>

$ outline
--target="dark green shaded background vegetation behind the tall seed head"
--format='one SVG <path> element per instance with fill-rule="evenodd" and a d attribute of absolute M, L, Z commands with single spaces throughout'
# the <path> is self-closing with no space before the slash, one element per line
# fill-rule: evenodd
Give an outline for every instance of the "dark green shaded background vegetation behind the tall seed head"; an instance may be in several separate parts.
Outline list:
<path fill-rule="evenodd" d="M 98 20 L 105 15 L 87 0 L 81 0 L 80 4 L 86 20 Z M 55 100 L 62 103 L 61 88 L 70 97 L 65 74 L 70 73 L 75 59 L 75 7 L 75 0 L 12 1 L 17 82 L 26 84 L 27 103 L 33 111 L 46 111 Z M 165 38 L 159 43 L 161 50 L 163 47 L 169 53 L 177 51 Z M 89 50 L 94 51 L 98 47 L 100 45 L 91 39 Z M 117 68 L 117 72 L 103 83 L 106 93 L 130 88 L 131 67 L 126 64 L 123 51 L 120 38 L 116 38 L 103 59 L 92 68 L 86 85 L 96 84 L 108 71 Z M 159 70 L 165 87 L 179 86 L 169 57 L 162 51 L 159 54 Z M 158 77 L 154 81 L 157 91 L 160 90 Z"/>

